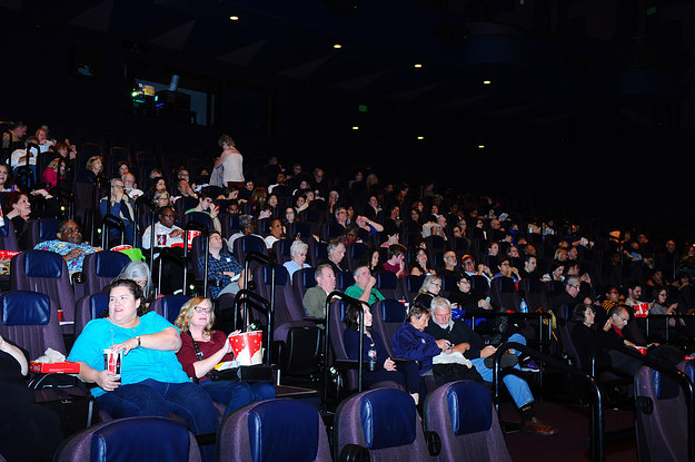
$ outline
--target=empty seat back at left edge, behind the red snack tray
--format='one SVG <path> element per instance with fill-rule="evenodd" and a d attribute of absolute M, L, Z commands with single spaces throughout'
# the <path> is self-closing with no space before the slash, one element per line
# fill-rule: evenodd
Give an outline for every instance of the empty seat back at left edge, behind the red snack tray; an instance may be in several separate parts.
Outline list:
<path fill-rule="evenodd" d="M 67 354 L 58 313 L 48 295 L 10 291 L 0 295 L 0 335 L 29 353 L 29 361 L 47 348 Z"/>

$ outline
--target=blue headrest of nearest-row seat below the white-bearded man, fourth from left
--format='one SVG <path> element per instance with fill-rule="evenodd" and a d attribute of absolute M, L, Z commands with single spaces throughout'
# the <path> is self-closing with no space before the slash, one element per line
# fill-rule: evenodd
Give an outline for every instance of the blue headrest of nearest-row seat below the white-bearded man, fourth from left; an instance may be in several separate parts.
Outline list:
<path fill-rule="evenodd" d="M 478 433 L 493 424 L 493 399 L 487 387 L 475 382 L 455 382 L 446 395 L 455 435 Z"/>

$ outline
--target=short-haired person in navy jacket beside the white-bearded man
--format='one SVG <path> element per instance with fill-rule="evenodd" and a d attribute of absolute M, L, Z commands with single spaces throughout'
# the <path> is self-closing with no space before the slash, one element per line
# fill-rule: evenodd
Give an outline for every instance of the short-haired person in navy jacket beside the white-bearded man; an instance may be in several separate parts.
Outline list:
<path fill-rule="evenodd" d="M 420 362 L 420 375 L 431 375 L 433 358 L 441 352 L 451 352 L 453 347 L 448 340 L 435 340 L 423 332 L 429 323 L 429 309 L 425 306 L 410 305 L 407 313 L 408 322 L 398 327 L 391 338 L 391 347 L 397 357 Z"/>

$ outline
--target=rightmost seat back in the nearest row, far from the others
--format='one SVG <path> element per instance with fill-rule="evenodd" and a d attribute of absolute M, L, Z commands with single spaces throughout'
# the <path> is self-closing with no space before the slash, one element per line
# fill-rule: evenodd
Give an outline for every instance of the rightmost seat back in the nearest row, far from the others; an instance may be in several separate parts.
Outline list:
<path fill-rule="evenodd" d="M 678 384 L 657 371 L 642 366 L 635 374 L 635 396 L 639 461 L 687 460 L 686 404 Z"/>

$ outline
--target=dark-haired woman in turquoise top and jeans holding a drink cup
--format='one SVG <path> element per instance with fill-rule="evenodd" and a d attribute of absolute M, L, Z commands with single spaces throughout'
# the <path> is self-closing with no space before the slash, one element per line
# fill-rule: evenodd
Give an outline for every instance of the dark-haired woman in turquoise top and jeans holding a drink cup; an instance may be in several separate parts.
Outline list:
<path fill-rule="evenodd" d="M 142 291 L 133 281 L 116 281 L 108 292 L 108 316 L 87 323 L 68 356 L 80 363 L 79 377 L 97 385 L 91 393 L 100 409 L 113 419 L 168 417 L 173 412 L 195 434 L 215 433 L 212 400 L 190 382 L 176 358 L 179 331 L 157 313 L 141 311 Z M 105 350 L 122 353 L 120 374 L 105 368 Z M 215 460 L 214 445 L 202 446 L 201 453 Z"/>

